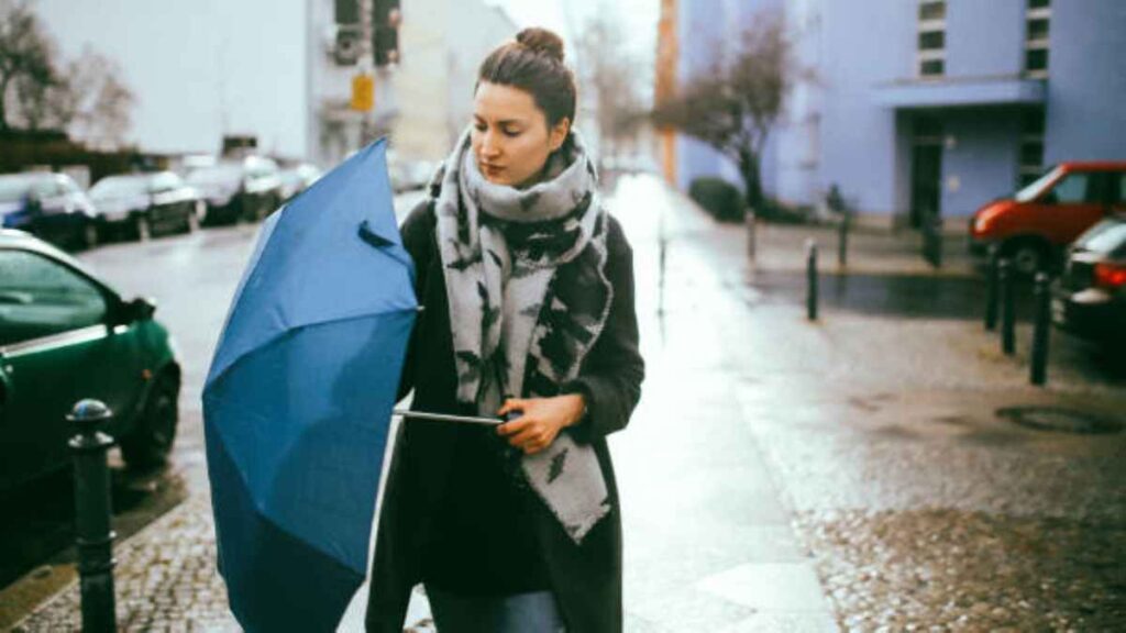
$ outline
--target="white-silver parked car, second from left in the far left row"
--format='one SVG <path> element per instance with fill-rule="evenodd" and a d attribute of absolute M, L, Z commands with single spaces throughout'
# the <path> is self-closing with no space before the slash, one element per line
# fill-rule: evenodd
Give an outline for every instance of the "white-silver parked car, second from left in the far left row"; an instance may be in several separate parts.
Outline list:
<path fill-rule="evenodd" d="M 90 189 L 102 238 L 125 233 L 136 239 L 190 232 L 206 204 L 171 171 L 109 176 Z"/>

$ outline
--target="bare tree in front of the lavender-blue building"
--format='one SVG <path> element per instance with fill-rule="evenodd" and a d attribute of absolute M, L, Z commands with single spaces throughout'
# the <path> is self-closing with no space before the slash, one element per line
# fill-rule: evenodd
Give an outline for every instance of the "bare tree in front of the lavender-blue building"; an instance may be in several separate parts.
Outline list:
<path fill-rule="evenodd" d="M 743 178 L 747 204 L 761 211 L 762 150 L 797 73 L 781 15 L 760 12 L 738 45 L 716 50 L 709 71 L 658 105 L 653 119 L 730 158 Z"/>

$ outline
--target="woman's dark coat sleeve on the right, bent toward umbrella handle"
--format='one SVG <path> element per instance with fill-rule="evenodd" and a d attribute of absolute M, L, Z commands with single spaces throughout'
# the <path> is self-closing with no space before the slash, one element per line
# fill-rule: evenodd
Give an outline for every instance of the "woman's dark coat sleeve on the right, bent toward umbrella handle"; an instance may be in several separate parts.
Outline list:
<path fill-rule="evenodd" d="M 606 276 L 614 287 L 610 313 L 579 376 L 562 390 L 582 393 L 587 399 L 587 417 L 571 429 L 580 442 L 593 442 L 625 428 L 641 399 L 645 377 L 634 309 L 633 249 L 613 217 L 607 248 Z"/>

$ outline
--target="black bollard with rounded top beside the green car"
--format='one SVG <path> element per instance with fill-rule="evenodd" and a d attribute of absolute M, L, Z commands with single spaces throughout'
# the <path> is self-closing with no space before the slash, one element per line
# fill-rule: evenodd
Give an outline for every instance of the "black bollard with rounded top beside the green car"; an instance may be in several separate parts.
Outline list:
<path fill-rule="evenodd" d="M 81 400 L 66 419 L 78 428 L 70 440 L 74 454 L 74 527 L 82 594 L 82 631 L 117 630 L 114 605 L 114 532 L 110 527 L 109 465 L 106 453 L 114 438 L 101 433 L 113 418 L 97 400 Z"/>

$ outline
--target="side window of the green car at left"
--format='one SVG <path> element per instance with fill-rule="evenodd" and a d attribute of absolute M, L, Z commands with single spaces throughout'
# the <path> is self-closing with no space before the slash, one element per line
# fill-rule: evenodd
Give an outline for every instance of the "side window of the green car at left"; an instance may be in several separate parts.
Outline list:
<path fill-rule="evenodd" d="M 89 279 L 46 257 L 0 250 L 0 345 L 96 326 L 106 300 Z"/>

